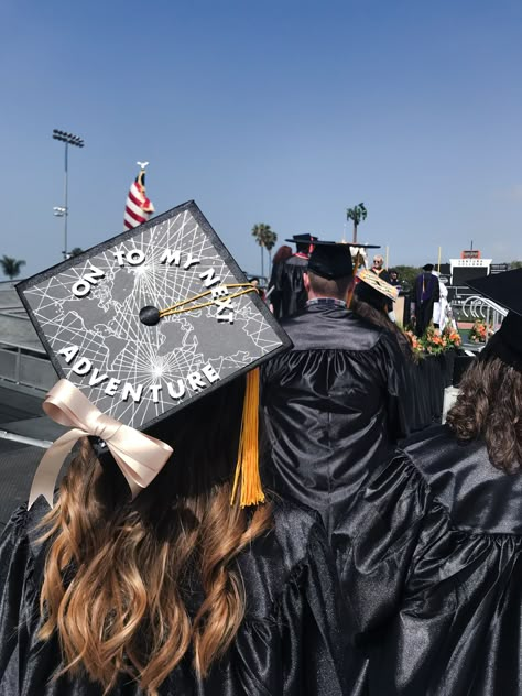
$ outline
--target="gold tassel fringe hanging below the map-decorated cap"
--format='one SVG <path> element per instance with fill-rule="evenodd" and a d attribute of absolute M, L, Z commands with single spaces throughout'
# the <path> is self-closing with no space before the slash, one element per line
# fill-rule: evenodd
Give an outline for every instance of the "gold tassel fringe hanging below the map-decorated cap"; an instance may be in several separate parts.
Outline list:
<path fill-rule="evenodd" d="M 238 463 L 233 478 L 230 504 L 233 505 L 239 483 L 241 508 L 264 502 L 261 477 L 259 475 L 259 369 L 247 374 L 241 435 L 239 437 Z"/>

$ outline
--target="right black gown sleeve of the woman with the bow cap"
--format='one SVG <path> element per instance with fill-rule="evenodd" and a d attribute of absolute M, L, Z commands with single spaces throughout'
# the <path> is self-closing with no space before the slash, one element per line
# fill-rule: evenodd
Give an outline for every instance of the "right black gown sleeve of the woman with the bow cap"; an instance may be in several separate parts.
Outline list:
<path fill-rule="evenodd" d="M 348 641 L 335 562 L 319 524 L 279 607 L 284 696 L 348 696 Z"/>

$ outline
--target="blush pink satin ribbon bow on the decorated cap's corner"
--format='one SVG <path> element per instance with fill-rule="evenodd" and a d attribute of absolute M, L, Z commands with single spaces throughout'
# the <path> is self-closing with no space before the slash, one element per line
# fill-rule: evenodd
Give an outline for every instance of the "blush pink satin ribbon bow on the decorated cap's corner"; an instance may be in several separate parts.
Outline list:
<path fill-rule="evenodd" d="M 45 396 L 45 413 L 68 431 L 56 439 L 43 456 L 31 486 L 29 508 L 44 496 L 51 508 L 59 469 L 75 443 L 87 435 L 106 442 L 110 454 L 129 483 L 134 499 L 157 476 L 172 447 L 161 439 L 144 435 L 133 427 L 105 415 L 68 380 L 59 380 Z"/>

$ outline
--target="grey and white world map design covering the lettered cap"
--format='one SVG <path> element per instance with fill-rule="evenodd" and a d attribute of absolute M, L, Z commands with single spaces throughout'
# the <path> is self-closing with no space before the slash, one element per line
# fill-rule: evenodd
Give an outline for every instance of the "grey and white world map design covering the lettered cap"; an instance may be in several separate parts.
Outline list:
<path fill-rule="evenodd" d="M 115 250 L 131 249 L 144 252 L 143 264 L 119 267 Z M 165 249 L 182 251 L 180 267 L 160 264 Z M 184 270 L 188 254 L 200 262 Z M 102 270 L 105 278 L 93 286 L 87 297 L 77 298 L 72 287 L 90 265 Z M 232 325 L 217 320 L 216 306 L 165 317 L 155 327 L 144 326 L 139 320 L 139 312 L 145 305 L 163 308 L 204 291 L 199 274 L 210 265 L 222 283 L 240 282 L 191 211 L 184 210 L 26 289 L 24 296 L 33 312 L 33 320 L 40 325 L 55 354 L 61 348 L 77 345 L 77 358 L 88 358 L 100 374 L 120 379 L 121 384 L 115 396 L 107 396 L 108 380 L 98 387 L 89 387 L 93 372 L 77 376 L 72 370 L 76 360 L 67 365 L 64 357 L 56 356 L 65 377 L 104 413 L 127 425 L 142 427 L 180 403 L 168 395 L 167 382 L 184 380 L 187 395 L 183 403 L 187 403 L 196 393 L 186 383 L 189 372 L 210 362 L 222 380 L 282 345 L 248 294 L 232 301 L 236 307 Z M 124 298 L 113 296 L 118 282 L 123 286 L 126 282 L 130 284 L 131 292 Z M 100 320 L 89 325 L 94 314 L 99 314 Z M 199 339 L 203 335 L 208 340 L 209 331 L 214 344 L 210 351 L 200 346 Z M 180 334 L 180 341 L 171 348 L 171 339 L 176 334 Z M 216 350 L 219 337 L 225 337 L 228 344 L 235 337 L 233 351 L 227 349 L 227 354 L 221 355 Z M 132 398 L 121 401 L 124 382 L 143 384 L 139 403 Z M 159 402 L 154 403 L 149 388 L 160 382 L 163 389 Z"/>

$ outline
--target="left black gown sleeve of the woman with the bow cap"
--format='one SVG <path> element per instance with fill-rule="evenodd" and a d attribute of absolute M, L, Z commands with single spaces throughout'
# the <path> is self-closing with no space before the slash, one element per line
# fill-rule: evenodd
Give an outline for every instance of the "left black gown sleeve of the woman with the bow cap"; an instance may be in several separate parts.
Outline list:
<path fill-rule="evenodd" d="M 19 693 L 20 675 L 37 620 L 28 511 L 19 508 L 0 540 L 0 695 Z M 36 607 L 35 603 L 36 602 Z"/>

